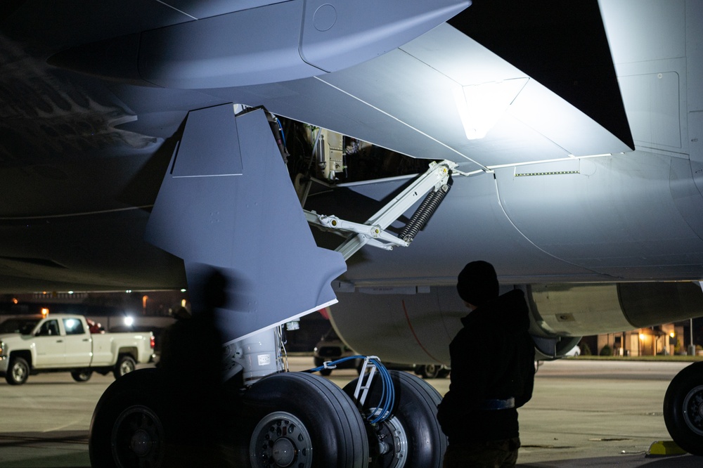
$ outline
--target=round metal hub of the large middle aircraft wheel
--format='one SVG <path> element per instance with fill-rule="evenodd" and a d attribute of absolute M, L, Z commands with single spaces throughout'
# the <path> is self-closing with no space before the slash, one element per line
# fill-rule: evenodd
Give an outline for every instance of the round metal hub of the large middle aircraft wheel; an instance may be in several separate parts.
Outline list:
<path fill-rule="evenodd" d="M 252 467 L 256 468 L 310 468 L 312 438 L 295 415 L 272 412 L 254 429 L 249 453 Z"/>

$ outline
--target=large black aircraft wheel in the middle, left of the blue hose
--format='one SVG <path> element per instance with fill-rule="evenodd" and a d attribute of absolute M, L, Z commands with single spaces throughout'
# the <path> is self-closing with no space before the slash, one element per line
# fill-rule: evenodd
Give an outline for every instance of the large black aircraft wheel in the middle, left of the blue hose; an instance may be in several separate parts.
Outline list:
<path fill-rule="evenodd" d="M 314 374 L 264 377 L 243 399 L 254 468 L 366 467 L 368 438 L 359 411 L 340 387 Z"/>

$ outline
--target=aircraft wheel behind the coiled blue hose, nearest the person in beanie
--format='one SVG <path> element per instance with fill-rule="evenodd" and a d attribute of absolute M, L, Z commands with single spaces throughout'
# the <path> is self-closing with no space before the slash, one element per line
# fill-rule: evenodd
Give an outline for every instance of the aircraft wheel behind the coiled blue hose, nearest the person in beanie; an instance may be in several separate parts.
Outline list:
<path fill-rule="evenodd" d="M 369 446 L 375 448 L 370 466 L 441 467 L 447 446 L 446 436 L 437 422 L 441 395 L 420 377 L 399 370 L 389 372 L 394 384 L 395 403 L 389 419 L 368 428 L 372 438 Z M 354 394 L 357 381 L 354 379 L 344 386 L 350 396 Z M 382 390 L 382 381 L 377 375 L 362 408 L 364 415 L 371 415 L 379 409 Z"/>

